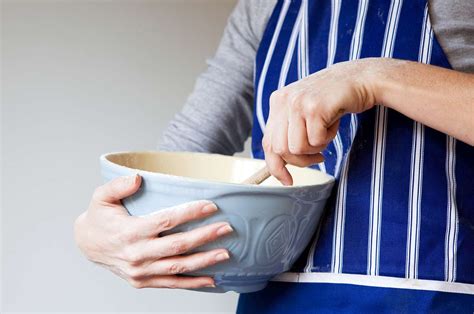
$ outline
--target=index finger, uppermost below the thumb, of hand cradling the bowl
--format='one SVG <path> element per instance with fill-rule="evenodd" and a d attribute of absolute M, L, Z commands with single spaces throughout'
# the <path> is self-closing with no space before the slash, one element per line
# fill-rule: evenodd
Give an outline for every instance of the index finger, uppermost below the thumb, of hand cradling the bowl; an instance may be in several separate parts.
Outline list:
<path fill-rule="evenodd" d="M 137 219 L 137 231 L 148 237 L 200 218 L 217 211 L 217 206 L 210 201 L 195 201 L 159 210 Z"/>

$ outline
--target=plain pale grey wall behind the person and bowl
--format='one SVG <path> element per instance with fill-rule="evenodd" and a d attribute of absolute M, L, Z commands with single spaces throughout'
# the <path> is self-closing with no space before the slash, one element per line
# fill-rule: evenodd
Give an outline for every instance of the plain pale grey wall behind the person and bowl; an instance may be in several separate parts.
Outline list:
<path fill-rule="evenodd" d="M 235 310 L 234 293 L 135 290 L 72 231 L 99 155 L 156 148 L 234 4 L 2 1 L 2 312 Z"/>

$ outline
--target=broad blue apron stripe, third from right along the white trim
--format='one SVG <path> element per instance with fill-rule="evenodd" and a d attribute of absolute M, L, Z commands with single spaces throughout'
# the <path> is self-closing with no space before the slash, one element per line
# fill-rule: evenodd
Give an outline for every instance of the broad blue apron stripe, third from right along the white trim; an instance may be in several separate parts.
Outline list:
<path fill-rule="evenodd" d="M 424 5 L 404 1 L 395 38 L 393 57 L 418 60 Z M 388 109 L 385 146 L 384 197 L 380 237 L 379 274 L 403 276 L 407 251 L 413 120 Z M 396 156 L 396 157 L 395 157 Z M 400 188 L 404 187 L 404 188 Z"/>

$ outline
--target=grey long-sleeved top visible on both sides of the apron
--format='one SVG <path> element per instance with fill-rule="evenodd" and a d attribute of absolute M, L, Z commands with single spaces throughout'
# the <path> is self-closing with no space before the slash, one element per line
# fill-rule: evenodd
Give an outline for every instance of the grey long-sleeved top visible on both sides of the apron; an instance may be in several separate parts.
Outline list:
<path fill-rule="evenodd" d="M 275 3 L 237 3 L 215 56 L 164 131 L 160 150 L 225 155 L 243 150 L 252 127 L 255 56 Z M 454 69 L 474 72 L 474 1 L 429 5 L 434 32 Z"/>

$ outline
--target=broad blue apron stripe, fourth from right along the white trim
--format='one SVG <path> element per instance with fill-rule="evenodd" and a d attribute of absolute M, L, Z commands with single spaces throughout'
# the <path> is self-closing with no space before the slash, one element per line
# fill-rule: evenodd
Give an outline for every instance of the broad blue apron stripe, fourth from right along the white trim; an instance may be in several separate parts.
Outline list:
<path fill-rule="evenodd" d="M 380 56 L 389 1 L 371 0 L 367 8 L 361 58 Z M 367 269 L 368 233 L 371 188 L 371 165 L 374 143 L 375 109 L 358 115 L 359 128 L 352 144 L 347 179 L 346 223 L 344 231 L 345 273 L 361 274 Z"/>

